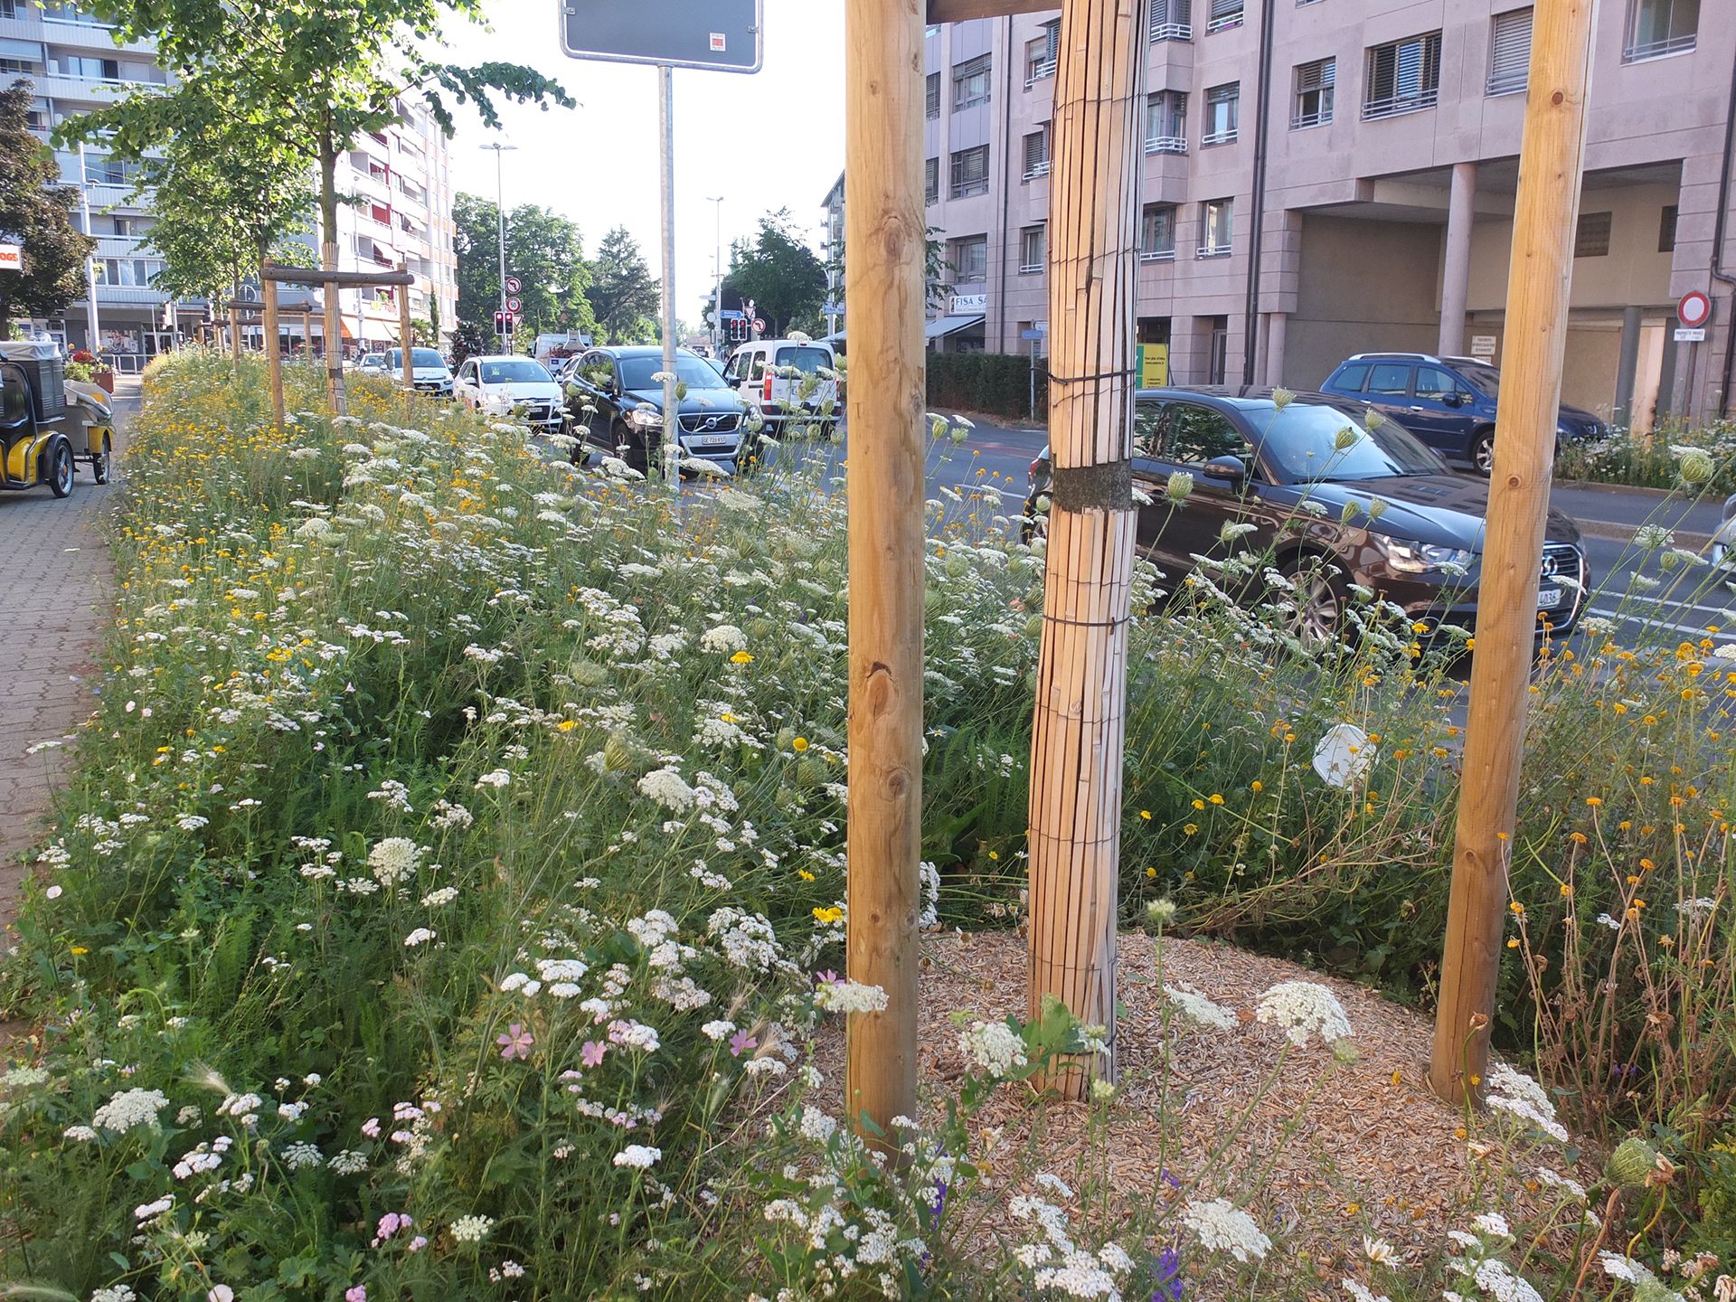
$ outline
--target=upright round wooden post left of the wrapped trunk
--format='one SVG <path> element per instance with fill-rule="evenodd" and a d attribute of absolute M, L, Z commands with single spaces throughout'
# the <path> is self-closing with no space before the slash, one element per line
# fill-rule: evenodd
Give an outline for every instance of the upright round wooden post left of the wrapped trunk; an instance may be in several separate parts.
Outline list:
<path fill-rule="evenodd" d="M 922 849 L 922 0 L 845 0 L 844 241 L 851 339 L 849 976 L 845 1113 L 917 1115 Z M 871 1137 L 871 1132 L 868 1132 Z M 896 1144 L 896 1139 L 892 1141 Z"/>

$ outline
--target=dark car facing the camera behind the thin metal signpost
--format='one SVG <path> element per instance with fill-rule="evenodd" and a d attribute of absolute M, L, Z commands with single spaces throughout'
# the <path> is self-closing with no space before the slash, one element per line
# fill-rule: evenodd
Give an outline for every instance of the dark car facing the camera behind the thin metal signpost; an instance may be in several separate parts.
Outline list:
<path fill-rule="evenodd" d="M 658 464 L 663 443 L 661 347 L 601 347 L 585 352 L 566 375 L 566 408 L 582 446 L 621 455 L 635 470 Z M 746 404 L 712 365 L 675 351 L 681 398 L 681 453 L 733 469 L 746 436 Z M 585 408 L 594 408 L 587 411 Z M 625 448 L 625 453 L 618 450 Z"/>

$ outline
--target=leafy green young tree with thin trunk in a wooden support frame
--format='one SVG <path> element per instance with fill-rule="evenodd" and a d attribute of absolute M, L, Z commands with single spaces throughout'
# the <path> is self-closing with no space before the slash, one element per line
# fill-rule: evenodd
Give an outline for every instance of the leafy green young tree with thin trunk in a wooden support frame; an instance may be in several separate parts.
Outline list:
<path fill-rule="evenodd" d="M 337 163 L 363 132 L 401 118 L 401 95 L 417 95 L 444 132 L 453 104 L 472 104 L 484 125 L 498 127 L 495 94 L 516 101 L 571 106 L 542 73 L 509 62 L 476 68 L 432 57 L 448 16 L 481 19 L 483 0 L 257 0 L 247 7 L 214 0 L 87 0 L 115 26 L 116 40 L 155 38 L 158 59 L 179 76 L 198 75 L 207 94 L 226 97 L 243 123 L 293 156 L 318 163 L 321 266 L 337 269 Z M 175 99 L 135 90 L 122 104 Z M 89 132 L 75 123 L 66 139 Z M 325 295 L 325 335 L 335 342 L 337 295 Z M 344 404 L 344 368 L 326 349 L 333 408 Z"/>

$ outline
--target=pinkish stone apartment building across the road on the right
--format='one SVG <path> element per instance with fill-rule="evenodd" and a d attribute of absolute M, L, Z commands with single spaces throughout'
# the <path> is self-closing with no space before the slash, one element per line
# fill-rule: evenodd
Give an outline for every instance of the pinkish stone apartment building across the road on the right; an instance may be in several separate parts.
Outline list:
<path fill-rule="evenodd" d="M 1319 384 L 1368 349 L 1500 361 L 1531 7 L 1149 0 L 1139 339 L 1172 382 Z M 927 35 L 929 224 L 955 293 L 937 347 L 1017 352 L 1049 316 L 1059 16 Z M 1722 240 L 1736 5 L 1604 0 L 1564 396 L 1715 411 L 1736 279 Z M 1705 342 L 1675 304 L 1715 300 Z"/>

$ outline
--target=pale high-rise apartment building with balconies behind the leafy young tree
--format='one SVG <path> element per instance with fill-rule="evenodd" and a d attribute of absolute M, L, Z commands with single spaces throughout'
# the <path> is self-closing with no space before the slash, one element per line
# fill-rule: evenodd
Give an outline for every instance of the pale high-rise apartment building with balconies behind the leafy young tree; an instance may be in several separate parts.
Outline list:
<path fill-rule="evenodd" d="M 43 142 L 66 118 L 141 85 L 167 87 L 170 80 L 151 42 L 116 45 L 108 24 L 75 5 L 0 0 L 0 80 L 16 78 L 33 83 L 31 127 Z M 339 191 L 358 200 L 339 208 L 339 262 L 347 271 L 406 264 L 417 276 L 411 314 L 427 318 L 431 304 L 437 304 L 441 328 L 450 335 L 458 309 L 458 257 L 446 137 L 422 106 L 404 99 L 398 108 L 401 122 L 363 137 L 339 167 Z M 61 179 L 83 187 L 78 224 L 97 240 L 92 260 L 97 339 L 92 342 L 85 300 L 36 325 L 69 349 L 101 351 L 116 370 L 142 370 L 175 340 L 174 328 L 165 325 L 168 299 L 153 288 L 163 264 L 146 241 L 149 196 L 134 196 L 134 165 L 111 160 L 99 148 L 59 149 L 56 160 Z M 257 299 L 257 288 L 245 286 L 241 297 Z M 344 339 L 352 351 L 396 339 L 398 306 L 391 290 L 345 290 L 342 297 Z M 288 340 L 300 342 L 299 307 L 318 312 L 318 292 L 285 295 Z M 186 306 L 179 325 L 182 332 L 191 328 Z M 312 335 L 318 340 L 321 333 L 316 319 Z M 259 340 L 255 326 L 250 342 Z"/>

